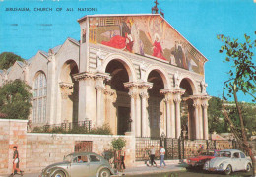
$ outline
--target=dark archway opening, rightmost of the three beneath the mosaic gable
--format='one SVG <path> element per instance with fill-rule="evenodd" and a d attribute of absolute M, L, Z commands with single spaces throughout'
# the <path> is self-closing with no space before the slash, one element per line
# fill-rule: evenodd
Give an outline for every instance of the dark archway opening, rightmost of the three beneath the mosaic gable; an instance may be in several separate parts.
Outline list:
<path fill-rule="evenodd" d="M 190 96 L 193 95 L 192 82 L 185 78 L 180 82 L 179 87 L 186 90 L 181 96 L 181 131 L 185 135 L 185 139 L 196 139 L 195 108 L 193 100 L 190 99 Z"/>

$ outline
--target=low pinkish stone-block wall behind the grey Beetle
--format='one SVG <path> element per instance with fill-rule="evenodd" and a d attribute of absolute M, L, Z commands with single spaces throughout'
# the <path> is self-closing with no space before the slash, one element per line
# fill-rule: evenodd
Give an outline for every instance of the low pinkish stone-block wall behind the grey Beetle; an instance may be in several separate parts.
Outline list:
<path fill-rule="evenodd" d="M 0 119 L 0 174 L 11 173 L 13 146 L 18 147 L 20 167 L 26 172 L 38 172 L 47 165 L 63 160 L 75 151 L 75 143 L 92 141 L 92 151 L 102 154 L 118 137 L 126 140 L 126 164 L 135 161 L 135 139 L 132 136 L 41 134 L 27 133 L 27 121 Z"/>

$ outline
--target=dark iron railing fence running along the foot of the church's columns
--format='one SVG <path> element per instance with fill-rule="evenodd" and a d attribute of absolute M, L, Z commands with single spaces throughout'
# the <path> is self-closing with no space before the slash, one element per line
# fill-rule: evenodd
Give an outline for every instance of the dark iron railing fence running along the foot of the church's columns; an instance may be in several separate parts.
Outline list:
<path fill-rule="evenodd" d="M 160 145 L 166 150 L 165 159 L 187 159 L 198 155 L 200 145 L 204 149 L 240 149 L 234 140 L 184 140 L 171 138 L 136 138 L 136 160 L 147 160 L 151 147 L 155 146 L 156 158 L 160 158 Z"/>

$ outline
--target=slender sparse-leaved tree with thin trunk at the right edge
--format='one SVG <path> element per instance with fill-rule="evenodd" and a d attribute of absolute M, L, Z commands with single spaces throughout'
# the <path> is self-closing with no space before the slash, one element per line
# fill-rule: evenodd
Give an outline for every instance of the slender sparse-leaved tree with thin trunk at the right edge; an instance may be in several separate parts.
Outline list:
<path fill-rule="evenodd" d="M 256 34 L 256 32 L 255 32 Z M 223 42 L 220 53 L 226 52 L 225 62 L 231 64 L 228 72 L 229 78 L 224 82 L 223 98 L 233 97 L 239 117 L 239 126 L 236 126 L 230 119 L 225 106 L 223 106 L 224 117 L 228 121 L 238 144 L 247 151 L 252 160 L 253 175 L 256 173 L 255 158 L 247 141 L 247 133 L 244 127 L 244 119 L 241 107 L 238 103 L 237 92 L 243 92 L 251 95 L 253 101 L 256 100 L 256 66 L 253 61 L 253 47 L 256 47 L 256 40 L 251 40 L 250 36 L 244 34 L 245 41 L 238 43 L 238 39 L 231 39 L 223 34 L 217 35 L 217 38 Z M 228 91 L 227 93 L 225 91 Z"/>

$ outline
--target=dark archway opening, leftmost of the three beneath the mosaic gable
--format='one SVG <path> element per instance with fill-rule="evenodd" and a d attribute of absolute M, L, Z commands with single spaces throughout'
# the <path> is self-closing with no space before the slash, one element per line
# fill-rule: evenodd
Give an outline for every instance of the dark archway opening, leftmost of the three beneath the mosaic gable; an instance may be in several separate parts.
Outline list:
<path fill-rule="evenodd" d="M 124 64 L 118 60 L 111 60 L 105 72 L 111 76 L 111 80 L 106 83 L 106 89 L 115 94 L 115 98 L 106 103 L 105 122 L 110 125 L 114 134 L 124 135 L 130 132 L 131 98 L 129 90 L 124 87 L 124 83 L 129 82 L 129 75 Z M 112 113 L 107 114 L 111 109 Z"/>

